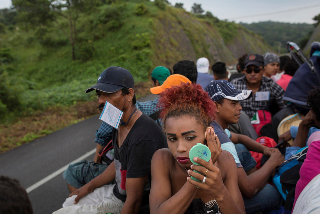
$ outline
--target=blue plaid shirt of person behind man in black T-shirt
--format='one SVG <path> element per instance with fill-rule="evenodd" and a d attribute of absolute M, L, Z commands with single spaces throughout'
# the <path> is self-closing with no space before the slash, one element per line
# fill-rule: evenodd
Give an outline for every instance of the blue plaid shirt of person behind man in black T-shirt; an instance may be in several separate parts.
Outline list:
<path fill-rule="evenodd" d="M 146 115 L 150 116 L 156 111 L 159 111 L 160 108 L 158 107 L 158 99 L 156 98 L 153 101 L 146 101 L 146 102 L 137 102 L 136 107 Z M 157 119 L 156 123 L 162 127 L 162 119 Z M 105 122 L 102 122 L 100 129 L 96 132 L 96 139 L 94 140 L 96 143 L 99 143 L 101 146 L 106 146 L 112 138 L 112 126 L 108 125 Z"/>

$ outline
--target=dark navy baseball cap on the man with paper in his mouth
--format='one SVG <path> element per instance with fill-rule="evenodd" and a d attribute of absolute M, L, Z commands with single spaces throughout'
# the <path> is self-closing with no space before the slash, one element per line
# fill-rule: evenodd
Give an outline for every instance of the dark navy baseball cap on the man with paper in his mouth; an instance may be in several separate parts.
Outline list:
<path fill-rule="evenodd" d="M 92 90 L 100 90 L 113 93 L 123 88 L 134 86 L 132 74 L 125 68 L 111 66 L 104 70 L 98 77 L 97 84 L 85 90 L 86 93 Z"/>

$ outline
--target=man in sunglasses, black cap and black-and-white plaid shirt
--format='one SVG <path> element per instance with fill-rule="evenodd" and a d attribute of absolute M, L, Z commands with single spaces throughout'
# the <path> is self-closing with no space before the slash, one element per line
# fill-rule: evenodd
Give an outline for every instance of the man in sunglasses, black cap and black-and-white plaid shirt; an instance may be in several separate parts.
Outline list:
<path fill-rule="evenodd" d="M 234 79 L 231 83 L 238 90 L 252 90 L 252 97 L 240 101 L 243 111 L 250 117 L 258 110 L 270 111 L 273 103 L 279 108 L 288 107 L 282 100 L 284 90 L 272 79 L 263 76 L 264 62 L 259 54 L 250 54 L 244 60 L 245 76 Z"/>

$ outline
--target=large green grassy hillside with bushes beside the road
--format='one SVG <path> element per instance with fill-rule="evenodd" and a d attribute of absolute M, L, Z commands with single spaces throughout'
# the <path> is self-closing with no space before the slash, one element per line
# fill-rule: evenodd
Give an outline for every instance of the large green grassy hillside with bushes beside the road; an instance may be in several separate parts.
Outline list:
<path fill-rule="evenodd" d="M 232 63 L 245 52 L 270 50 L 238 24 L 191 14 L 165 0 L 60 1 L 80 2 L 82 10 L 70 4 L 54 11 L 45 0 L 16 2 L 17 10 L 0 11 L 0 123 L 93 99 L 84 90 L 111 65 L 143 82 L 157 65 L 202 56 L 212 64 Z M 42 7 L 46 13 L 38 11 Z"/>

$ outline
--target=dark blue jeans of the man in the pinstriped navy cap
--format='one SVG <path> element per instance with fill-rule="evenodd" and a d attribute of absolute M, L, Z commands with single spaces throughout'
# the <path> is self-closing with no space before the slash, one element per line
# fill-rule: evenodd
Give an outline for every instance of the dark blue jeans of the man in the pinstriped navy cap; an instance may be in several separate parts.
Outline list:
<path fill-rule="evenodd" d="M 256 161 L 252 158 L 251 153 L 243 144 L 236 144 L 236 151 L 244 168 L 244 171 L 249 171 L 256 166 Z M 256 212 L 268 212 L 280 208 L 282 198 L 275 186 L 267 184 L 256 193 L 252 198 L 243 196 L 244 207 L 247 214 Z"/>

